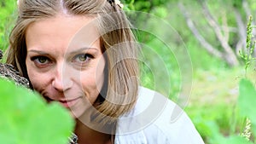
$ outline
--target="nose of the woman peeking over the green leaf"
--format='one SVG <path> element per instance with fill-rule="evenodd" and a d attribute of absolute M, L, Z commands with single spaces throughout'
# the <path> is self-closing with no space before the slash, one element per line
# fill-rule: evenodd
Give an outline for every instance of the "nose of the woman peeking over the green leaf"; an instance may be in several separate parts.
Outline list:
<path fill-rule="evenodd" d="M 73 86 L 73 80 L 71 78 L 71 74 L 70 72 L 67 71 L 67 67 L 64 66 L 63 62 L 55 66 L 52 86 L 60 92 L 64 92 L 67 89 L 72 88 Z"/>

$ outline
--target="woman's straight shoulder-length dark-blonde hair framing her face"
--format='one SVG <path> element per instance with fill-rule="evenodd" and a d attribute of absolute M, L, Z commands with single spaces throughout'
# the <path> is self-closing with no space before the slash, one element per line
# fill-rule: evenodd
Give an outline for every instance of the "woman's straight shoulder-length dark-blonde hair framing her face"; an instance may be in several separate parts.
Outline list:
<path fill-rule="evenodd" d="M 103 15 L 98 19 L 97 29 L 101 33 L 102 53 L 107 60 L 107 89 L 102 90 L 105 92 L 99 96 L 96 110 L 102 119 L 109 117 L 112 120 L 129 112 L 137 100 L 137 44 L 124 11 L 115 3 L 108 3 L 107 0 L 20 0 L 18 18 L 9 37 L 7 63 L 15 66 L 21 76 L 28 78 L 26 28 L 32 22 L 60 13 Z"/>

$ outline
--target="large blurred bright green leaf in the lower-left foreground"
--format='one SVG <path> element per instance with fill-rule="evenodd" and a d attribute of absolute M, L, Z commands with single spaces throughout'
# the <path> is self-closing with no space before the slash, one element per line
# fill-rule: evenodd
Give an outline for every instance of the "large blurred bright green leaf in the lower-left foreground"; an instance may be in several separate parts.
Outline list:
<path fill-rule="evenodd" d="M 0 79 L 0 140 L 5 144 L 65 144 L 73 118 L 58 103 Z"/>

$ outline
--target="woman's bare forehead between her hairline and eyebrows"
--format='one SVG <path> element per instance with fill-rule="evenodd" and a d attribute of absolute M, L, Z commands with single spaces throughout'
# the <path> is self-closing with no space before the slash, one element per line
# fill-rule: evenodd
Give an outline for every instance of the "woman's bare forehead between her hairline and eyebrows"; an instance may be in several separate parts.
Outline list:
<path fill-rule="evenodd" d="M 27 47 L 90 47 L 99 38 L 92 16 L 60 14 L 32 22 L 26 29 Z"/>

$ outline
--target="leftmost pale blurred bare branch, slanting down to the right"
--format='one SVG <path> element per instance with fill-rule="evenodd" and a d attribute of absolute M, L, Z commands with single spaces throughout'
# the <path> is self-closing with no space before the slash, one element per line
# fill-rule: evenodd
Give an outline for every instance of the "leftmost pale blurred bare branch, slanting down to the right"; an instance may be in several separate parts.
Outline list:
<path fill-rule="evenodd" d="M 195 35 L 197 40 L 201 43 L 201 45 L 207 49 L 207 51 L 211 54 L 214 55 L 218 58 L 223 58 L 222 54 L 220 51 L 217 49 L 214 49 L 210 43 L 206 41 L 204 37 L 201 36 L 200 32 L 198 32 L 197 28 L 194 25 L 194 22 L 189 18 L 189 13 L 186 11 L 183 3 L 178 3 L 178 7 L 181 10 L 183 16 L 185 17 L 187 24 L 189 26 L 190 31 Z"/>

